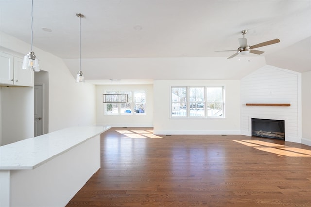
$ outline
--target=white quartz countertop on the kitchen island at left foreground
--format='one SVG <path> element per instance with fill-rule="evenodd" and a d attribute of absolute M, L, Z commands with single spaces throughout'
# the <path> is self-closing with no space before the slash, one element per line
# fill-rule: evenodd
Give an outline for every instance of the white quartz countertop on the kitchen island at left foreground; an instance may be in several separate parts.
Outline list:
<path fill-rule="evenodd" d="M 109 126 L 71 127 L 0 146 L 0 170 L 35 169 L 108 129 Z"/>

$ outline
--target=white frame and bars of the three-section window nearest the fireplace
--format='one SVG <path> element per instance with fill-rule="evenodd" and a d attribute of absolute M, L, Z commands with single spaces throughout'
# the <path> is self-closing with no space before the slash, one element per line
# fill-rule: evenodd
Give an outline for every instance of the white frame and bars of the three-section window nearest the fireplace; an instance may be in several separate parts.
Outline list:
<path fill-rule="evenodd" d="M 200 88 L 203 87 L 204 89 L 204 101 L 190 101 L 190 88 Z M 172 89 L 173 88 L 186 88 L 186 101 L 184 102 L 186 104 L 186 115 L 185 116 L 173 116 L 173 103 L 182 103 L 182 102 L 173 102 L 172 100 Z M 221 116 L 208 116 L 208 103 L 210 100 L 207 100 L 207 88 L 222 88 L 222 100 L 221 100 L 221 107 L 222 107 L 222 115 Z M 204 104 L 204 116 L 193 116 L 190 115 L 190 103 L 202 103 Z M 216 102 L 216 101 L 214 101 Z M 219 103 L 219 102 L 218 102 Z M 170 86 L 170 118 L 172 119 L 223 119 L 225 118 L 225 85 L 196 85 L 196 86 Z M 180 109 L 178 109 L 180 110 Z"/>

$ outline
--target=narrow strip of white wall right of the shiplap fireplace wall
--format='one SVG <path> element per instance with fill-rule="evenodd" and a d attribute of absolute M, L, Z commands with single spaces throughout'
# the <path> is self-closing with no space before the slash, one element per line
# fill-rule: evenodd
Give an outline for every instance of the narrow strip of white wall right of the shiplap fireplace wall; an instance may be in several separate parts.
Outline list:
<path fill-rule="evenodd" d="M 302 78 L 302 139 L 301 143 L 311 146 L 311 71 L 304 72 Z"/>

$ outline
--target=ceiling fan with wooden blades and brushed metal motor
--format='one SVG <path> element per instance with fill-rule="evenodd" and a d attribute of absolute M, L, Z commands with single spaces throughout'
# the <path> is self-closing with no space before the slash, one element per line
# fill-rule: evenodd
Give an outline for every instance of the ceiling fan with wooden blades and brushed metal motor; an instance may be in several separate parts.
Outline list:
<path fill-rule="evenodd" d="M 240 47 L 238 48 L 238 50 L 226 50 L 226 51 L 237 51 L 237 53 L 231 55 L 230 57 L 228 57 L 228 59 L 233 58 L 233 57 L 237 56 L 238 54 L 242 54 L 242 55 L 245 55 L 248 53 L 262 54 L 262 53 L 264 53 L 264 51 L 253 50 L 253 49 L 263 47 L 263 46 L 267 46 L 267 45 L 272 45 L 272 44 L 280 42 L 279 39 L 273 39 L 270 41 L 261 42 L 259 44 L 253 45 L 253 46 L 249 46 L 249 45 L 247 45 L 247 39 L 245 38 L 245 34 L 247 33 L 247 30 L 242 30 L 241 33 L 243 34 L 243 38 L 239 38 Z M 215 51 L 215 52 L 224 52 L 224 51 Z"/>

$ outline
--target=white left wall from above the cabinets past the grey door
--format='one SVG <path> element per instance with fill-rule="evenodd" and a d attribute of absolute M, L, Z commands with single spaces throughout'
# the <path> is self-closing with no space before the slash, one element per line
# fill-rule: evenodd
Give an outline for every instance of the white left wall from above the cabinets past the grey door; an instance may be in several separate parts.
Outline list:
<path fill-rule="evenodd" d="M 0 36 L 1 48 L 20 54 L 29 52 L 29 44 L 3 32 Z M 49 132 L 95 124 L 95 86 L 75 83 L 75 77 L 59 57 L 35 47 L 33 51 L 39 59 L 40 69 L 49 72 Z"/>

